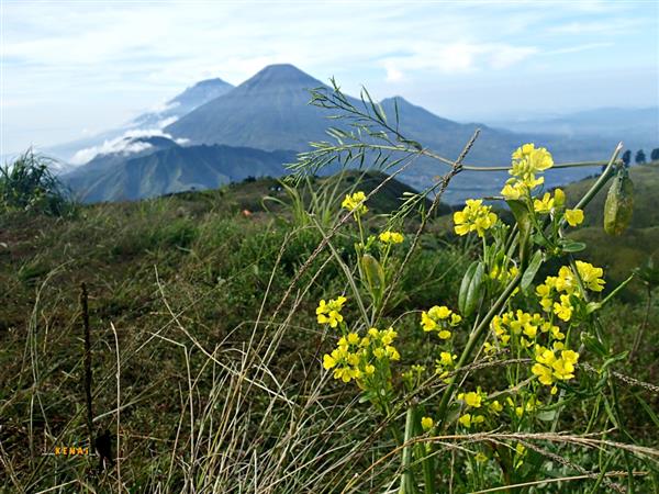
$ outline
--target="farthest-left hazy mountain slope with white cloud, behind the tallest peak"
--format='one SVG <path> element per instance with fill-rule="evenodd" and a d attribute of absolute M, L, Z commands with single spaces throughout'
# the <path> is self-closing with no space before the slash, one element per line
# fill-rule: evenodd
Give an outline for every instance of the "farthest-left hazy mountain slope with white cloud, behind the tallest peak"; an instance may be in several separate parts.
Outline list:
<path fill-rule="evenodd" d="M 98 154 L 116 151 L 126 137 L 163 135 L 164 126 L 231 89 L 233 86 L 220 78 L 202 80 L 167 101 L 157 111 L 144 113 L 125 125 L 91 137 L 47 147 L 43 153 L 69 164 L 63 168 L 70 170 L 75 166 L 90 161 Z"/>

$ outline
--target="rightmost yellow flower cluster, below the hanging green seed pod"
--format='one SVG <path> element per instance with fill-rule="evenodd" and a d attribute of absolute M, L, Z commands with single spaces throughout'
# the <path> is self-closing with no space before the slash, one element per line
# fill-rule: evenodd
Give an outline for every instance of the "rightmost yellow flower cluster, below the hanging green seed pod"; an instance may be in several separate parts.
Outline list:
<path fill-rule="evenodd" d="M 604 270 L 595 268 L 590 262 L 578 260 L 577 272 L 583 283 L 583 288 L 593 292 L 601 292 L 604 289 Z M 554 312 L 560 319 L 568 322 L 572 318 L 574 306 L 572 297 L 583 299 L 579 281 L 574 271 L 569 266 L 562 266 L 558 270 L 558 276 L 547 277 L 545 283 L 536 287 L 536 295 L 540 299 L 540 305 L 545 312 Z M 558 299 L 555 300 L 555 295 Z"/>

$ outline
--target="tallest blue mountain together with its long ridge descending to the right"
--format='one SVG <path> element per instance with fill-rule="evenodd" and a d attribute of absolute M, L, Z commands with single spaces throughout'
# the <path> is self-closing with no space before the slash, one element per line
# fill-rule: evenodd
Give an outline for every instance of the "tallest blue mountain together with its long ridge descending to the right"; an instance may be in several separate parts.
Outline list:
<path fill-rule="evenodd" d="M 192 144 L 305 150 L 309 149 L 309 142 L 330 138 L 326 135 L 328 126 L 342 124 L 342 121 L 327 119 L 336 112 L 309 104 L 309 89 L 320 87 L 327 88 L 292 65 L 271 65 L 235 89 L 182 116 L 164 131 Z M 361 105 L 357 99 L 350 98 L 350 101 Z M 400 97 L 381 101 L 384 112 L 391 119 L 395 101 L 402 134 L 447 158 L 457 158 L 476 128 L 480 128 L 480 137 L 466 160 L 474 165 L 509 165 L 513 150 L 527 142 L 548 147 L 557 161 L 606 159 L 617 144 L 613 138 L 597 141 L 541 133 L 514 133 L 478 123 L 454 122 Z M 445 166 L 435 160 L 421 158 L 401 177 L 416 189 L 424 189 L 446 170 Z M 547 182 L 566 183 L 592 172 L 592 169 L 583 168 L 562 171 L 560 175 L 549 172 Z M 446 200 L 460 202 L 472 195 L 496 193 L 506 178 L 505 172 L 462 172 L 447 191 Z"/>

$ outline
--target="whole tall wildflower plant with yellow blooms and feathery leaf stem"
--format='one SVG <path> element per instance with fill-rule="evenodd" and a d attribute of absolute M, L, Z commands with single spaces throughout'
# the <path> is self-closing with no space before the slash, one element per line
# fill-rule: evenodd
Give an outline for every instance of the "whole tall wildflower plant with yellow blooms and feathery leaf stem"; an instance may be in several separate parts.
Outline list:
<path fill-rule="evenodd" d="M 621 173 L 621 146 L 583 197 L 568 198 L 561 189 L 546 188 L 544 173 L 593 164 L 555 164 L 548 149 L 528 143 L 512 153 L 509 167 L 468 166 L 462 160 L 478 133 L 457 160 L 447 160 L 403 136 L 398 112 L 395 121 L 388 120 L 367 92 L 362 108 L 336 86 L 330 94 L 324 90 L 312 94 L 312 103 L 342 110 L 349 123 L 331 131 L 337 145 L 314 143 L 314 151 L 301 155 L 299 169 L 308 166 L 315 171 L 333 160 L 361 164 L 368 157 L 382 169 L 401 166 L 396 172 L 418 157 L 450 166 L 435 186 L 418 198 L 407 198 L 375 233 L 372 224 L 370 229 L 365 226 L 365 217 L 371 214 L 370 195 L 347 195 L 343 206 L 357 226 L 355 266 L 334 251 L 354 295 L 346 304 L 359 308 L 361 317 L 337 323 L 340 330 L 331 334 L 335 347 L 323 356 L 323 367 L 336 380 L 354 381 L 362 393 L 360 403 L 370 403 L 387 424 L 395 442 L 393 451 L 401 458 L 400 493 L 448 492 L 449 485 L 459 485 L 455 492 L 512 485 L 524 491 L 539 484 L 552 476 L 544 469 L 557 456 L 523 437 L 556 433 L 565 423 L 565 412 L 572 415 L 573 408 L 585 417 L 585 426 L 576 425 L 574 433 L 590 434 L 595 424 L 614 424 L 627 434 L 610 371 L 625 355 L 613 352 L 599 312 L 629 279 L 607 287 L 604 269 L 581 258 L 585 245 L 570 237 L 584 222 L 584 209 L 593 197 L 615 170 Z M 396 153 L 409 161 L 394 159 Z M 417 307 L 412 315 L 393 317 L 388 302 L 399 289 L 396 270 L 405 269 L 451 178 L 463 170 L 503 169 L 510 178 L 499 197 L 469 199 L 453 214 L 455 234 L 472 239 L 465 244 L 472 261 L 459 291 Z M 629 193 L 632 187 L 616 190 Z M 421 199 L 432 194 L 433 205 L 426 210 Z M 630 204 L 625 201 L 624 206 Z M 503 220 L 504 209 L 512 213 L 512 222 Z M 392 224 L 400 228 L 416 210 L 421 226 L 415 236 L 392 229 Z M 608 224 L 617 221 L 616 233 L 622 232 L 629 211 L 611 211 L 617 216 Z M 610 292 L 604 296 L 605 289 Z M 382 335 L 388 335 L 387 340 Z M 411 345 L 411 339 L 423 344 Z M 512 436 L 500 439 L 496 433 Z M 451 447 L 456 438 L 465 438 L 467 446 Z M 629 458 L 616 460 L 621 458 L 630 468 Z M 358 491 L 357 485 L 354 479 L 346 491 Z M 604 476 L 597 485 L 617 489 Z"/>

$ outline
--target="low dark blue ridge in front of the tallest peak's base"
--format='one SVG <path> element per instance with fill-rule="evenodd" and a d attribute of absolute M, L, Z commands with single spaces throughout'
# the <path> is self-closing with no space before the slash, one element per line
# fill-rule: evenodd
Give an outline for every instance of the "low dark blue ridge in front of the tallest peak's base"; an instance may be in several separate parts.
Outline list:
<path fill-rule="evenodd" d="M 157 142 L 156 142 L 157 141 Z M 132 139 L 150 145 L 129 156 L 114 153 L 62 177 L 83 202 L 153 198 L 186 190 L 215 189 L 247 177 L 279 177 L 294 151 L 223 145 L 179 146 L 171 139 Z"/>

